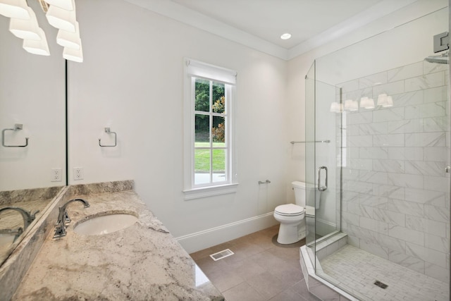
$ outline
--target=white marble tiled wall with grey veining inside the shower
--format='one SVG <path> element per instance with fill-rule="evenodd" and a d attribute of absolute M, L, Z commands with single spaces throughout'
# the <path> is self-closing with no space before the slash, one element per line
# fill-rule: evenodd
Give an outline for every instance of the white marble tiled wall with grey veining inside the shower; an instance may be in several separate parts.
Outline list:
<path fill-rule="evenodd" d="M 338 85 L 342 99 L 376 103 L 386 93 L 394 103 L 342 116 L 348 243 L 441 281 L 450 266 L 447 67 L 421 61 Z"/>

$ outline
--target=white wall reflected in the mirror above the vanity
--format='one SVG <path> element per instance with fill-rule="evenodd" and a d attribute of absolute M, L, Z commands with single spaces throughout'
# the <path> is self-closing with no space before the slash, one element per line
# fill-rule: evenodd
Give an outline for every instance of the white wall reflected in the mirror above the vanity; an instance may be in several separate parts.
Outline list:
<path fill-rule="evenodd" d="M 6 131 L 0 145 L 0 191 L 66 185 L 66 121 L 63 49 L 39 4 L 30 1 L 39 25 L 47 33 L 51 56 L 29 54 L 22 39 L 9 32 L 9 18 L 0 16 L 0 130 L 22 123 L 23 130 Z M 61 181 L 51 182 L 51 168 L 61 168 Z"/>

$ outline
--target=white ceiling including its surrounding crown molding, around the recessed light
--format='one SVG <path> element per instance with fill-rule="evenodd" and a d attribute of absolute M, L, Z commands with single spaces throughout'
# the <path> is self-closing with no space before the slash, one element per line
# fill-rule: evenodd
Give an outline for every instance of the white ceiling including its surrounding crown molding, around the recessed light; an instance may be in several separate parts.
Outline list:
<path fill-rule="evenodd" d="M 291 59 L 417 0 L 125 0 Z M 280 39 L 289 32 L 291 39 Z"/>

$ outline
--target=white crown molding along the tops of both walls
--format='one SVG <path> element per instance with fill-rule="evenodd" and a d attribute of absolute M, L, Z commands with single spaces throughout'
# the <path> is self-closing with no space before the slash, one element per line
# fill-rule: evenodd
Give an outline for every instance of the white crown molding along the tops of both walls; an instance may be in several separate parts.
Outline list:
<path fill-rule="evenodd" d="M 414 20 L 427 13 L 432 13 L 440 8 L 447 6 L 447 0 L 434 0 L 434 1 L 418 1 L 418 0 L 383 0 L 378 4 L 367 8 L 365 11 L 358 13 L 345 20 L 334 27 L 330 27 L 328 30 L 321 32 L 321 34 L 312 37 L 301 44 L 298 44 L 291 49 L 285 49 L 276 44 L 268 42 L 264 39 L 250 35 L 249 33 L 239 30 L 236 27 L 232 27 L 225 23 L 222 23 L 214 18 L 205 16 L 202 13 L 194 11 L 190 8 L 177 4 L 168 0 L 125 0 L 130 4 L 135 4 L 142 8 L 146 8 L 149 11 L 158 13 L 161 16 L 166 16 L 177 20 L 186 25 L 196 27 L 200 30 L 210 32 L 214 35 L 218 35 L 225 39 L 229 39 L 233 42 L 245 45 L 246 47 L 256 49 L 271 56 L 276 56 L 279 59 L 288 61 L 294 59 L 296 56 L 311 51 L 317 47 L 321 47 L 328 42 L 345 37 L 351 32 L 358 30 L 370 23 L 376 23 L 376 20 L 380 20 L 391 13 L 398 12 L 395 18 L 381 23 L 378 26 L 374 26 L 371 30 L 367 30 L 364 33 L 360 33 L 359 39 L 365 39 L 377 35 L 378 33 L 390 30 L 393 27 L 402 25 Z M 407 8 L 405 13 L 400 11 L 402 8 Z M 355 41 L 358 42 L 358 41 Z"/>

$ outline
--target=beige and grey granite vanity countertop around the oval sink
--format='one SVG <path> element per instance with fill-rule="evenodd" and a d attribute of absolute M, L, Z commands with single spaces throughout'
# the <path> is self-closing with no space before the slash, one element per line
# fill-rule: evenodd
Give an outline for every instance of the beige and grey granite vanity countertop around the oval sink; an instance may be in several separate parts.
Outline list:
<path fill-rule="evenodd" d="M 53 231 L 12 300 L 224 300 L 133 190 L 77 195 L 67 235 Z M 105 235 L 73 227 L 89 216 L 131 213 L 132 226 Z"/>

